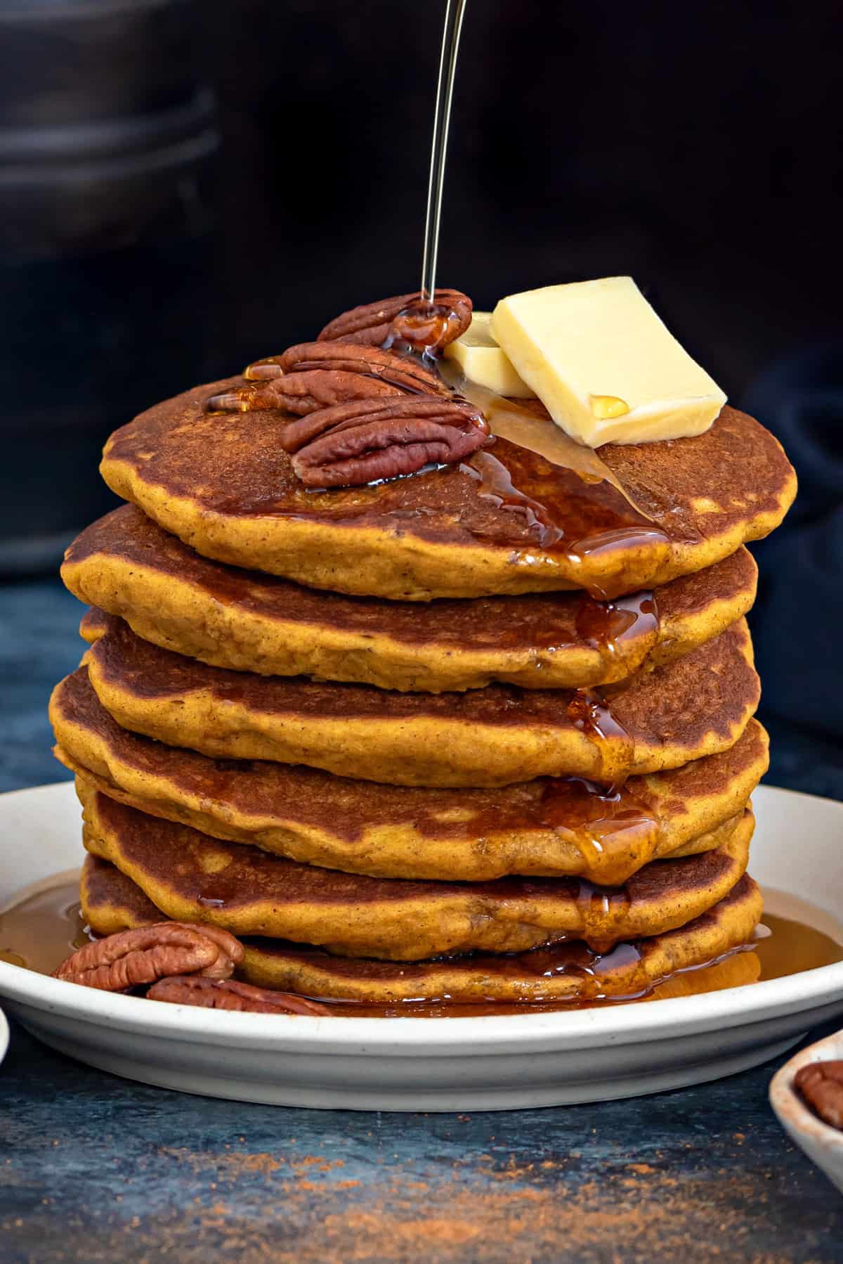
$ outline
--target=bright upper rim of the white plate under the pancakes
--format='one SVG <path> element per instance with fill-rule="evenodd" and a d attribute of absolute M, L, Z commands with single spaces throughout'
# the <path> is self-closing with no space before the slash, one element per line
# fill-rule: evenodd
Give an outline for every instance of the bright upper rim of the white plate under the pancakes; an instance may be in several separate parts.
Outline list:
<path fill-rule="evenodd" d="M 38 791 L 57 791 L 72 781 L 53 781 L 0 795 L 4 801 Z M 810 799 L 840 814 L 843 804 L 799 790 L 762 786 L 756 794 Z M 164 1005 L 149 1012 L 144 997 L 123 996 L 80 988 L 61 980 L 35 975 L 20 966 L 0 962 L 0 996 L 13 1006 L 23 1005 L 87 1024 L 107 1023 L 121 1031 L 145 1035 L 178 1035 L 188 1043 L 222 1043 L 238 1048 L 276 1049 L 289 1053 L 327 1053 L 358 1055 L 415 1057 L 461 1055 L 468 1049 L 485 1055 L 509 1055 L 531 1049 L 536 1053 L 559 1049 L 590 1049 L 605 1042 L 623 1044 L 650 1043 L 653 1039 L 682 1039 L 710 1030 L 717 1023 L 723 1029 L 751 1026 L 785 1014 L 806 1015 L 827 1004 L 843 1005 L 843 962 L 801 971 L 785 978 L 765 980 L 751 986 L 681 996 L 645 1007 L 613 1006 L 599 1010 L 561 1010 L 546 1014 L 478 1015 L 476 1018 L 413 1019 L 335 1018 L 286 1015 L 283 1028 L 270 1014 L 229 1014 L 192 1006 Z M 444 1026 L 445 1024 L 445 1026 Z"/>

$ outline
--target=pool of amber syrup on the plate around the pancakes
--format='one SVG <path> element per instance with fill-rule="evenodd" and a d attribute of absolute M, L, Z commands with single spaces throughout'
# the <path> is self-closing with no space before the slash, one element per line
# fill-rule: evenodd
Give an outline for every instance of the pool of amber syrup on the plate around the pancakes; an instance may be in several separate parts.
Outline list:
<path fill-rule="evenodd" d="M 80 913 L 77 881 L 59 875 L 54 886 L 37 895 L 25 895 L 0 914 L 0 961 L 21 966 L 43 975 L 52 973 L 76 948 L 88 942 L 88 932 Z M 680 971 L 694 992 L 712 990 L 714 971 L 736 953 L 752 952 L 760 962 L 760 980 L 785 978 L 804 969 L 830 966 L 843 961 L 843 943 L 824 934 L 808 921 L 765 914 L 758 937 L 747 945 L 707 962 L 690 971 Z M 634 943 L 617 944 L 608 953 L 599 953 L 584 944 L 570 943 L 538 948 L 528 953 L 503 954 L 498 959 L 502 977 L 523 976 L 526 971 L 541 977 L 555 973 L 576 973 L 586 999 L 564 1005 L 552 1002 L 522 1004 L 449 1004 L 447 1000 L 402 1005 L 365 1005 L 353 1001 L 324 1001 L 337 1018 L 464 1018 L 492 1014 L 549 1012 L 595 1006 L 623 1005 L 646 996 L 657 997 L 658 985 L 634 995 L 600 999 L 600 978 L 612 968 L 634 966 L 638 949 Z M 676 977 L 676 976 L 672 976 Z"/>

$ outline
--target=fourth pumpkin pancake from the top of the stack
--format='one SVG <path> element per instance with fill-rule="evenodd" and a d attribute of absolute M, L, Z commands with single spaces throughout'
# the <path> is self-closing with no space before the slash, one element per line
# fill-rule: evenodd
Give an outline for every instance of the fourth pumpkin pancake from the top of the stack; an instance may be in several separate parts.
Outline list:
<path fill-rule="evenodd" d="M 543 777 L 498 790 L 375 785 L 268 761 L 219 761 L 121 728 L 80 667 L 51 720 L 66 767 L 97 790 L 215 838 L 373 877 L 509 873 L 626 882 L 650 860 L 719 847 L 767 767 L 757 720 L 731 751 L 631 777 L 605 796 Z"/>

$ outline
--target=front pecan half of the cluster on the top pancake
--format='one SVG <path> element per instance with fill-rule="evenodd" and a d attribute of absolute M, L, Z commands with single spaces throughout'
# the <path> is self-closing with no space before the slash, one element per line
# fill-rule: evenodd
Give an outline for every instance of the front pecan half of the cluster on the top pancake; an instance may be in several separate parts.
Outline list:
<path fill-rule="evenodd" d="M 489 426 L 466 402 L 416 396 L 322 408 L 291 421 L 281 444 L 308 487 L 360 487 L 425 465 L 449 465 L 482 447 Z"/>

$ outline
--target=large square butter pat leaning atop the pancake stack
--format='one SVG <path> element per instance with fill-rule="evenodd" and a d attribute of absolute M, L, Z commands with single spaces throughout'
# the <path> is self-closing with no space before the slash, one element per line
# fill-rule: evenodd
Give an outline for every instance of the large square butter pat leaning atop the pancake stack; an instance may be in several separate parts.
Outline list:
<path fill-rule="evenodd" d="M 556 425 L 589 447 L 701 435 L 725 403 L 632 277 L 511 295 L 492 336 Z"/>

